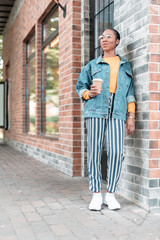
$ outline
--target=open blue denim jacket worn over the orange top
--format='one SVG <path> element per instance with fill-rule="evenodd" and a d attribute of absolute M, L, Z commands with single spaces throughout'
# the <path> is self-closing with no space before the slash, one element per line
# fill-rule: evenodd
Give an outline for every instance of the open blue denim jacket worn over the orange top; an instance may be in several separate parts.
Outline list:
<path fill-rule="evenodd" d="M 121 58 L 119 75 L 117 81 L 117 90 L 115 93 L 113 118 L 118 118 L 126 121 L 127 105 L 130 102 L 135 102 L 134 84 L 132 69 L 130 63 Z M 94 78 L 103 79 L 102 89 L 100 95 L 90 99 L 84 100 L 83 93 L 90 90 Z M 79 97 L 85 102 L 84 117 L 108 117 L 108 100 L 110 89 L 110 66 L 106 63 L 102 55 L 97 59 L 91 60 L 81 71 L 76 90 Z"/>

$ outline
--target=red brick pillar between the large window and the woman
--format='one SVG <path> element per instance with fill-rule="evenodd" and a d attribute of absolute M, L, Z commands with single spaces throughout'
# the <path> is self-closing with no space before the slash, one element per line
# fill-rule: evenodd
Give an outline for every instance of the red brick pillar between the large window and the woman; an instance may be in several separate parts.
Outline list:
<path fill-rule="evenodd" d="M 65 4 L 65 0 L 61 4 Z M 81 71 L 81 1 L 67 1 L 67 14 L 59 8 L 59 140 L 73 160 L 73 175 L 81 175 L 81 110 L 76 82 Z"/>

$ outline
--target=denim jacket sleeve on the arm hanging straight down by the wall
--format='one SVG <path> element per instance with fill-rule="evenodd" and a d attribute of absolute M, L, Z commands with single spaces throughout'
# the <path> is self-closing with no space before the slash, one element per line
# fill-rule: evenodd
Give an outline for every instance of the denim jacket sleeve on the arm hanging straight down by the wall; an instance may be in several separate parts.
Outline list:
<path fill-rule="evenodd" d="M 132 69 L 131 69 L 131 65 L 129 62 L 128 62 L 127 68 L 128 68 L 128 74 L 131 77 L 131 83 L 130 83 L 128 93 L 127 93 L 127 104 L 128 104 L 130 102 L 136 102 L 136 99 L 135 99 L 135 93 L 134 93 L 135 90 L 134 90 L 133 74 L 132 74 Z"/>

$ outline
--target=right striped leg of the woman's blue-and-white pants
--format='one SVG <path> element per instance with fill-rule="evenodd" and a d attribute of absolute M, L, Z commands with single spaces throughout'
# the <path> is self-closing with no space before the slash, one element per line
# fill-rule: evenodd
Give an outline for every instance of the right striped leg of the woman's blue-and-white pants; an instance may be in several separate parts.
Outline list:
<path fill-rule="evenodd" d="M 123 120 L 108 118 L 107 121 L 107 189 L 116 191 L 120 178 L 123 155 L 125 123 Z"/>

